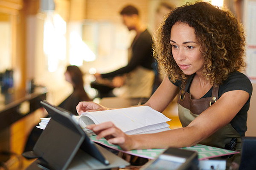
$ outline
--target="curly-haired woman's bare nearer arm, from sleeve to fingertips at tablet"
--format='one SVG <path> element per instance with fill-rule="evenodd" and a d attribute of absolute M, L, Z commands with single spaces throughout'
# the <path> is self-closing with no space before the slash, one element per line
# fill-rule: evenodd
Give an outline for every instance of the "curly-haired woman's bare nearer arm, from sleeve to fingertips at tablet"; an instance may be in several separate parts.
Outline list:
<path fill-rule="evenodd" d="M 124 150 L 189 147 L 227 125 L 248 99 L 249 94 L 245 91 L 226 92 L 187 127 L 160 133 L 126 135 L 111 122 L 90 125 L 88 128 L 98 134 L 98 139 L 105 137 L 109 142 L 118 144 Z"/>

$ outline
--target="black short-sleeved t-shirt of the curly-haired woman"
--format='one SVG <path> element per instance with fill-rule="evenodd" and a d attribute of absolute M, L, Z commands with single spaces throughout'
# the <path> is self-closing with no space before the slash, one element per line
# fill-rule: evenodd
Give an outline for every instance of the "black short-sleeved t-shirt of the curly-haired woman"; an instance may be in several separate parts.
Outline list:
<path fill-rule="evenodd" d="M 174 85 L 180 88 L 181 81 L 176 81 L 173 83 Z M 250 97 L 253 92 L 253 86 L 250 82 L 250 79 L 246 77 L 244 74 L 240 73 L 239 71 L 234 71 L 230 74 L 230 76 L 224 80 L 224 82 L 220 85 L 218 91 L 218 99 L 221 97 L 222 94 L 228 91 L 235 91 L 235 90 L 242 90 L 246 91 Z M 189 91 L 188 91 L 189 92 Z M 212 96 L 212 88 L 201 98 L 211 97 Z M 239 97 L 239 96 L 237 96 Z M 247 121 L 247 111 L 250 107 L 250 97 L 241 110 L 236 114 L 236 116 L 231 120 L 231 125 L 236 129 L 236 131 L 241 135 L 245 135 L 245 131 L 247 130 L 246 121 Z M 235 100 L 235 99 L 230 99 Z"/>

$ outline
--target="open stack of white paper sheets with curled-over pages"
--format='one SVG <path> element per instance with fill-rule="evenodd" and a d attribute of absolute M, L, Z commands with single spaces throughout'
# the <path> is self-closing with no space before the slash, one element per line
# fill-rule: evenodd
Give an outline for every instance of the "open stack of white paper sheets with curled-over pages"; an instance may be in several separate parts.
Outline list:
<path fill-rule="evenodd" d="M 74 116 L 74 118 L 88 136 L 95 135 L 91 130 L 86 129 L 86 126 L 90 124 L 111 121 L 123 132 L 132 135 L 170 130 L 166 122 L 171 120 L 149 106 L 88 112 L 82 113 L 81 116 Z M 38 128 L 44 129 L 49 120 L 50 118 L 41 118 Z"/>

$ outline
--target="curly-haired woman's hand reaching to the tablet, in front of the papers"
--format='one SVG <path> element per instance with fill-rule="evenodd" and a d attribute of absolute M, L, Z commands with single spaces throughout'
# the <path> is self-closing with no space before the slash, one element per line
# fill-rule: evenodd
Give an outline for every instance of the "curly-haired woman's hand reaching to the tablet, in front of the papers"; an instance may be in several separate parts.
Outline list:
<path fill-rule="evenodd" d="M 99 125 L 87 125 L 87 128 L 97 134 L 96 139 L 105 138 L 108 142 L 119 145 L 123 150 L 131 150 L 134 147 L 132 136 L 122 132 L 122 130 L 116 127 L 112 122 L 104 122 Z"/>

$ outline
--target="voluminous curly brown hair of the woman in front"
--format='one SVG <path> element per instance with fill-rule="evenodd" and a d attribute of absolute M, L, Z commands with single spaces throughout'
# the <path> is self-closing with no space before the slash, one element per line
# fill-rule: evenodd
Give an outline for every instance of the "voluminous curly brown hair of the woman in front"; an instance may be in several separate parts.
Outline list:
<path fill-rule="evenodd" d="M 188 78 L 172 56 L 170 34 L 177 22 L 195 29 L 204 57 L 203 74 L 212 85 L 222 83 L 230 73 L 246 66 L 244 29 L 236 17 L 206 2 L 186 3 L 172 10 L 154 34 L 154 57 L 172 82 L 182 80 L 184 85 Z"/>

